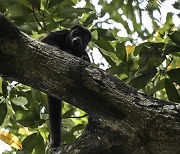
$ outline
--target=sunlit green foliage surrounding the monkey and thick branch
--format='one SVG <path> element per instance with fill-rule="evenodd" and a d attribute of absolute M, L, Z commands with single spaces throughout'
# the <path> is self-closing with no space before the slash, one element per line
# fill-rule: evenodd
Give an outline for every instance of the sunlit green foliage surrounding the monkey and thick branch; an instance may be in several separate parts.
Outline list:
<path fill-rule="evenodd" d="M 160 13 L 164 0 L 99 0 L 101 11 L 89 1 L 82 2 L 83 7 L 78 7 L 77 0 L 0 0 L 0 12 L 36 39 L 82 24 L 93 35 L 90 55 L 98 49 L 108 63 L 106 71 L 149 95 L 180 102 L 180 30 L 172 21 L 175 14 L 168 13 L 164 24 L 154 16 L 155 11 Z M 179 3 L 173 6 L 178 8 Z M 152 32 L 143 25 L 144 13 L 151 19 Z M 122 29 L 126 36 L 121 36 Z M 96 65 L 101 66 L 101 62 Z M 49 135 L 46 95 L 0 78 L 0 98 L 1 128 L 16 134 L 25 152 L 45 151 Z M 64 103 L 63 144 L 71 143 L 87 124 L 84 116 L 67 118 L 77 114 L 85 115 Z"/>

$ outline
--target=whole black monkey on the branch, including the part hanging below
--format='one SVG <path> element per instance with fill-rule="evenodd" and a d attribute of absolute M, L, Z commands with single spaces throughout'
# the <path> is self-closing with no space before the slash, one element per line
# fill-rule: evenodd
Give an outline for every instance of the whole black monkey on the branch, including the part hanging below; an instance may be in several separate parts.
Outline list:
<path fill-rule="evenodd" d="M 90 59 L 85 49 L 91 40 L 91 33 L 80 25 L 76 25 L 71 30 L 62 30 L 50 33 L 42 42 L 56 46 L 72 55 L 80 57 L 88 62 Z M 61 101 L 52 96 L 48 96 L 50 141 L 51 148 L 60 146 L 61 142 Z"/>

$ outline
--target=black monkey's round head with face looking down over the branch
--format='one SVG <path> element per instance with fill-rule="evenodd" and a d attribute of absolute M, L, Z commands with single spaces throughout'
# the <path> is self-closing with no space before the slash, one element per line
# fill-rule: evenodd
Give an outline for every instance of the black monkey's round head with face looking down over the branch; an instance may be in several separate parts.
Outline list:
<path fill-rule="evenodd" d="M 88 43 L 91 41 L 91 33 L 80 25 L 71 28 L 69 35 L 66 38 L 72 51 L 85 50 Z"/>

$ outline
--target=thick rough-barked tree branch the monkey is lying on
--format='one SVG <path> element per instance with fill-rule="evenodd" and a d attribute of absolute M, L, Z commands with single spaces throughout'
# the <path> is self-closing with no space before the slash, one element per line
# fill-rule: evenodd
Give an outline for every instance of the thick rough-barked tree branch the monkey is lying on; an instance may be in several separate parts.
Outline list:
<path fill-rule="evenodd" d="M 88 62 L 38 42 L 0 14 L 0 74 L 86 111 L 59 153 L 180 153 L 180 105 L 152 98 Z"/>

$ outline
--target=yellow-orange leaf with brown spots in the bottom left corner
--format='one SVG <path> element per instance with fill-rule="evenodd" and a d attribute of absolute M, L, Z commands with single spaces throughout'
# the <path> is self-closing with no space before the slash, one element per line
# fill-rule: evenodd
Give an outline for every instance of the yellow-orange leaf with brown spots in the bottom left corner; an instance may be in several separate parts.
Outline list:
<path fill-rule="evenodd" d="M 14 134 L 3 131 L 0 133 L 0 139 L 15 149 L 22 150 L 22 143 Z"/>

